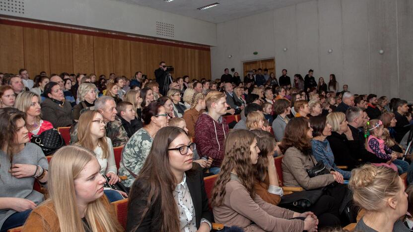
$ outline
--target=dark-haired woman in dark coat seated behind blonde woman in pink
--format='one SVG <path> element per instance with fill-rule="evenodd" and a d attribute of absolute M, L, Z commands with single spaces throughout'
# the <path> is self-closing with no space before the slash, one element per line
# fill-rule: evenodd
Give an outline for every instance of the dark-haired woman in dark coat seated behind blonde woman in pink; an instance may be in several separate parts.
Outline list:
<path fill-rule="evenodd" d="M 44 120 L 50 121 L 55 128 L 73 124 L 71 105 L 65 101 L 62 87 L 58 83 L 47 83 L 43 96 L 46 98 L 41 103 Z"/>

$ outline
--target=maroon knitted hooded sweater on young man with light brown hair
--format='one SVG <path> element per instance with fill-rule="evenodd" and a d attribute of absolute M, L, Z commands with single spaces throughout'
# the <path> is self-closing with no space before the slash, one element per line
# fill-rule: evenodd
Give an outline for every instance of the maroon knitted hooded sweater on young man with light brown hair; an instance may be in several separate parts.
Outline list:
<path fill-rule="evenodd" d="M 211 157 L 211 167 L 220 167 L 224 158 L 224 140 L 228 134 L 228 124 L 225 118 L 215 121 L 207 113 L 198 117 L 195 123 L 195 142 L 200 157 Z"/>

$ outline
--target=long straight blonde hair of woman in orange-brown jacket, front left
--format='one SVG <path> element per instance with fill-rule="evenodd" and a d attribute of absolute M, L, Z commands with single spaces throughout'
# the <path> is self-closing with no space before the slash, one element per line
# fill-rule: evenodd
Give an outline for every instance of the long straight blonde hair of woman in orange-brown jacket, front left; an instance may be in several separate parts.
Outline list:
<path fill-rule="evenodd" d="M 76 203 L 74 180 L 86 164 L 93 160 L 97 162 L 93 152 L 73 145 L 65 146 L 53 155 L 49 166 L 50 198 L 45 203 L 53 202 L 61 232 L 84 232 Z M 123 231 L 112 208 L 105 206 L 100 198 L 87 205 L 85 218 L 92 232 Z"/>

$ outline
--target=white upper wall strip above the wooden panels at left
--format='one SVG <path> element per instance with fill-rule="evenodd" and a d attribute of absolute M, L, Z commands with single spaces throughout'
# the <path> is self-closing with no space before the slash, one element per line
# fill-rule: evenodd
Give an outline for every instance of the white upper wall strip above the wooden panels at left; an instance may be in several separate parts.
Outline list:
<path fill-rule="evenodd" d="M 215 23 L 117 0 L 24 0 L 24 14 L 4 10 L 0 14 L 216 45 Z M 174 37 L 157 35 L 156 21 L 174 24 Z"/>

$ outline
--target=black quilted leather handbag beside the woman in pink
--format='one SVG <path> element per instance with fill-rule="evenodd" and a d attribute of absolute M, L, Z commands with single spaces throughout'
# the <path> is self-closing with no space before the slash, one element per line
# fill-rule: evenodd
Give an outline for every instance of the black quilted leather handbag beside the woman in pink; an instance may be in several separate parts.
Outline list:
<path fill-rule="evenodd" d="M 60 132 L 55 128 L 45 130 L 38 135 L 32 135 L 30 142 L 39 146 L 46 156 L 51 155 L 66 144 Z"/>

